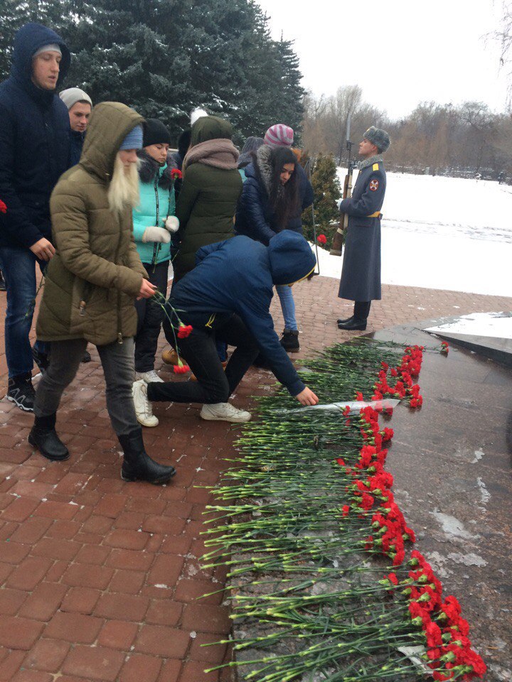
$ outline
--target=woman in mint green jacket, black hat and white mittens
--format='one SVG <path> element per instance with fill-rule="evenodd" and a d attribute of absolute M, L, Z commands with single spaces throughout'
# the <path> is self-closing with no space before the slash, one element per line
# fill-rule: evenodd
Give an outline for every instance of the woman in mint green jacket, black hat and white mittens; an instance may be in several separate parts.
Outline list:
<path fill-rule="evenodd" d="M 144 141 L 140 159 L 140 202 L 133 212 L 133 232 L 137 251 L 149 281 L 163 296 L 167 295 L 169 261 L 171 259 L 171 232 L 179 226 L 174 215 L 174 180 L 171 168 L 166 165 L 171 136 L 158 119 L 147 119 L 144 124 Z M 135 302 L 137 309 L 137 336 L 135 337 L 136 379 L 162 381 L 154 369 L 156 345 L 164 311 L 161 306 L 142 299 Z M 144 426 L 156 426 L 147 423 Z M 151 421 L 151 419 L 150 419 Z"/>

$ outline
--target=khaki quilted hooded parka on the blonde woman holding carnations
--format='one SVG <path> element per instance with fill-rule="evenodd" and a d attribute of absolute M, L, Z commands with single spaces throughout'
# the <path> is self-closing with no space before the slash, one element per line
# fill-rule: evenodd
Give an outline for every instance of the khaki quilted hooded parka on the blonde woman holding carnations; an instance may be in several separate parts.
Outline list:
<path fill-rule="evenodd" d="M 119 102 L 93 109 L 80 163 L 50 198 L 56 253 L 46 272 L 37 322 L 41 341 L 83 338 L 102 346 L 134 336 L 142 267 L 132 208 L 114 214 L 107 192 L 124 138 L 143 119 Z"/>

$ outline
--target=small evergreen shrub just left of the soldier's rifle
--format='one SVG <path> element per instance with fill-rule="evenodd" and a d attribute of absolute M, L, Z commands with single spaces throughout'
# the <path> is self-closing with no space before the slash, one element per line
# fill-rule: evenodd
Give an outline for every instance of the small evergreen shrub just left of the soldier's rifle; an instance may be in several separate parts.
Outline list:
<path fill-rule="evenodd" d="M 336 202 L 341 197 L 341 185 L 336 173 L 334 156 L 318 156 L 311 173 L 311 185 L 314 191 L 314 215 L 316 234 L 325 234 L 327 245 L 332 243 L 339 223 L 339 211 Z M 306 209 L 302 216 L 304 235 L 314 240 L 311 209 Z"/>

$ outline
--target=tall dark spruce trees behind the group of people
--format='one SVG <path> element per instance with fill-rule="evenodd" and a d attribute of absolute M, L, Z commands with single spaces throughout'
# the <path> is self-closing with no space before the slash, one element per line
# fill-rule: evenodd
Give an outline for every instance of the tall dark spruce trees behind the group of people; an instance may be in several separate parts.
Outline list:
<path fill-rule="evenodd" d="M 300 126 L 304 90 L 293 44 L 272 40 L 253 0 L 0 0 L 0 80 L 27 21 L 68 43 L 64 87 L 161 118 L 175 136 L 197 106 L 228 117 L 238 141 L 277 122 Z"/>

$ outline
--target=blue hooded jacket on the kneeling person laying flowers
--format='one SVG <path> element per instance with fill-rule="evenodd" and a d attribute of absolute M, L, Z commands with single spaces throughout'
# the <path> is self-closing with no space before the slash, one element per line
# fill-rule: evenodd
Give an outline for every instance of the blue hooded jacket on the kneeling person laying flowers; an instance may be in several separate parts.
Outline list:
<path fill-rule="evenodd" d="M 240 235 L 198 249 L 196 267 L 172 288 L 169 301 L 183 311 L 185 324 L 188 311 L 239 315 L 272 372 L 296 396 L 305 386 L 279 342 L 269 309 L 275 284 L 292 284 L 315 264 L 311 247 L 297 232 L 279 232 L 268 247 Z"/>

